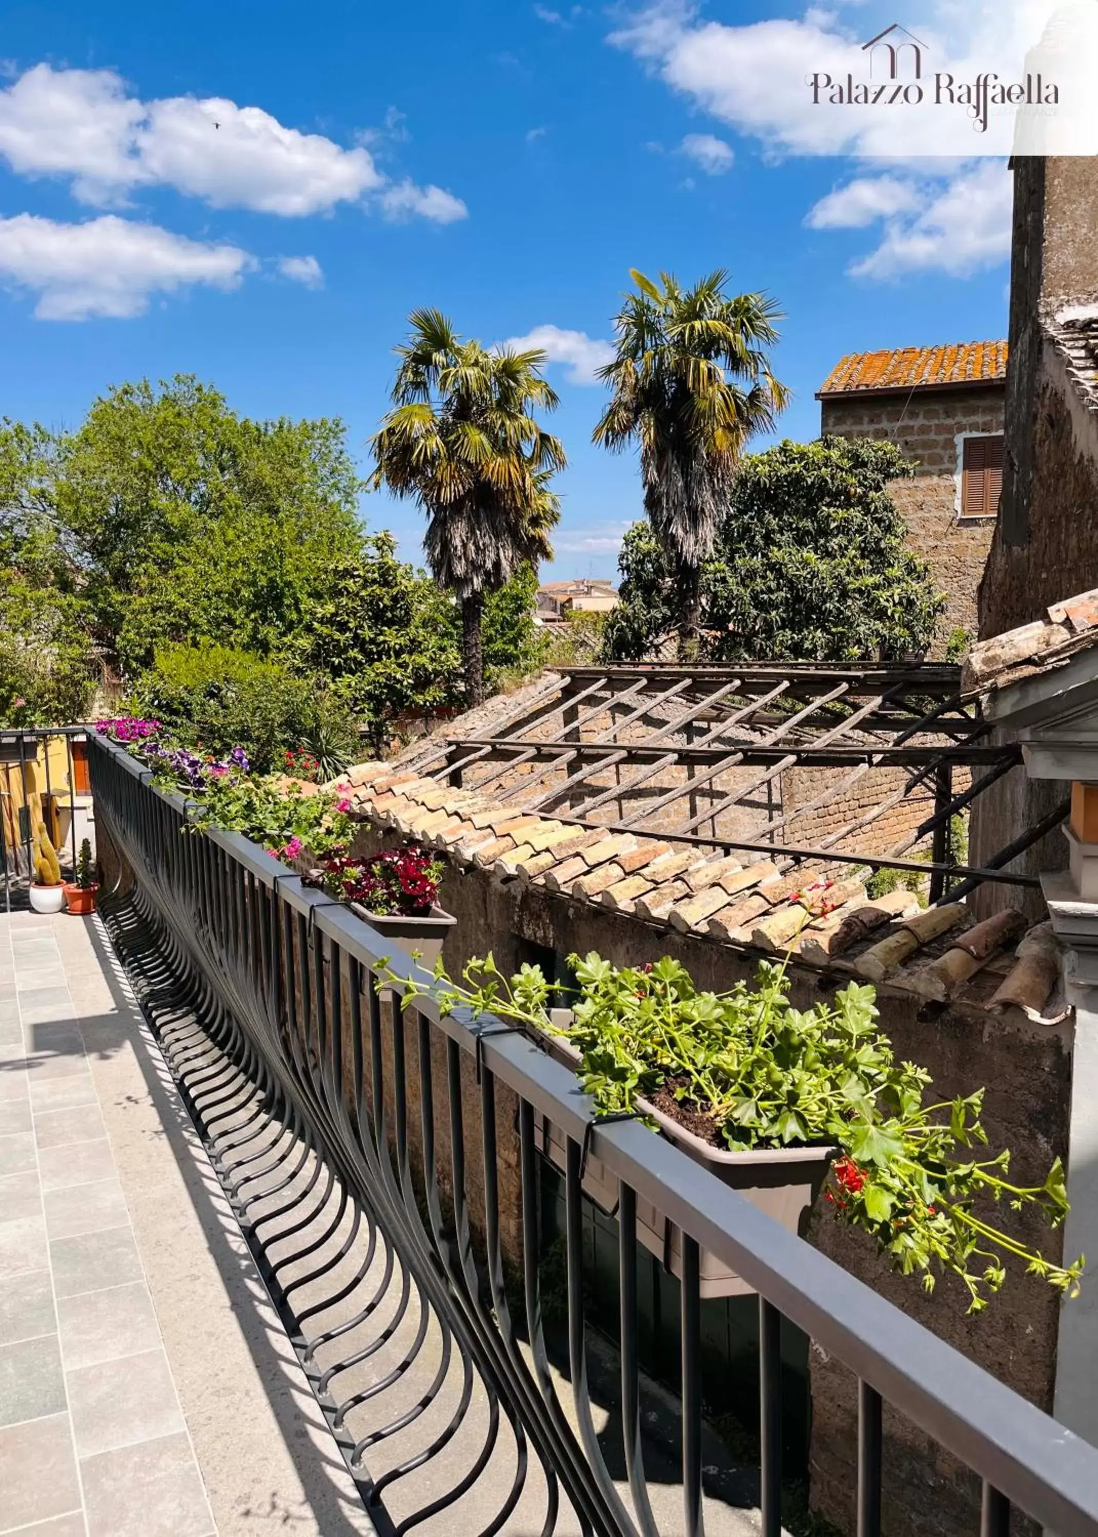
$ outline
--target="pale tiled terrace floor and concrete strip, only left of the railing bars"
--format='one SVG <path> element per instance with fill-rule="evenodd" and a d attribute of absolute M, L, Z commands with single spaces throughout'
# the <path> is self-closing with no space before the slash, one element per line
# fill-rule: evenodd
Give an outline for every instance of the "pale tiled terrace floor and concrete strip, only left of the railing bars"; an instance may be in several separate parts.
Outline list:
<path fill-rule="evenodd" d="M 0 1532 L 372 1532 L 101 927 L 0 915 Z"/>

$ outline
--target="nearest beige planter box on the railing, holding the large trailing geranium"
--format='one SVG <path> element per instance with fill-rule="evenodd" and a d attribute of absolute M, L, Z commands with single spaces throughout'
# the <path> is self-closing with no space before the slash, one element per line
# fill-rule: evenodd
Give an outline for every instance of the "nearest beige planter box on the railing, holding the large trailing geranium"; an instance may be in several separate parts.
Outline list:
<path fill-rule="evenodd" d="M 571 1019 L 569 1010 L 552 1010 L 554 1024 L 566 1025 Z M 575 1070 L 580 1065 L 580 1053 L 567 1041 L 558 1036 L 541 1036 L 549 1056 L 564 1067 Z M 827 1168 L 835 1156 L 835 1148 L 826 1147 L 792 1147 L 792 1148 L 760 1148 L 750 1153 L 732 1153 L 727 1148 L 714 1147 L 695 1137 L 686 1127 L 680 1127 L 670 1116 L 663 1114 L 646 1099 L 638 1102 L 638 1108 L 649 1116 L 660 1128 L 660 1136 L 674 1142 L 721 1183 L 738 1190 L 740 1194 L 774 1217 L 790 1233 L 801 1233 L 812 1203 L 817 1200 Z M 540 1139 L 543 1154 L 561 1171 L 566 1167 L 566 1139 L 558 1127 L 543 1116 L 535 1120 L 535 1134 Z M 583 1193 L 607 1216 L 615 1216 L 618 1208 L 618 1180 L 601 1159 L 587 1154 L 584 1168 Z M 674 1222 L 641 1196 L 637 1197 L 637 1237 L 646 1250 L 657 1254 L 672 1276 L 683 1274 L 683 1237 Z M 754 1293 L 741 1276 L 737 1276 L 723 1260 L 709 1250 L 701 1251 L 701 1296 L 703 1297 L 743 1297 Z"/>

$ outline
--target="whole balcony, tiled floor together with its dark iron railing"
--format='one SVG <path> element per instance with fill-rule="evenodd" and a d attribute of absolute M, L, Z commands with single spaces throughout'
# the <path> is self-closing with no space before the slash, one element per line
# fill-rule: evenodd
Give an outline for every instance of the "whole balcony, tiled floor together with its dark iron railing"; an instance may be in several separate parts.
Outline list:
<path fill-rule="evenodd" d="M 0 918 L 0 1532 L 777 1537 L 783 1320 L 858 1380 L 858 1537 L 895 1528 L 901 1425 L 941 1448 L 938 1529 L 1098 1531 L 1098 1451 L 643 1125 L 595 1120 L 517 1031 L 401 1016 L 372 928 L 234 835 L 181 835 L 123 752 L 91 767 L 103 922 Z M 587 1159 L 620 1185 L 612 1339 Z M 644 1202 L 681 1237 L 674 1394 L 637 1351 Z M 703 1251 L 758 1294 L 757 1463 L 704 1414 Z"/>

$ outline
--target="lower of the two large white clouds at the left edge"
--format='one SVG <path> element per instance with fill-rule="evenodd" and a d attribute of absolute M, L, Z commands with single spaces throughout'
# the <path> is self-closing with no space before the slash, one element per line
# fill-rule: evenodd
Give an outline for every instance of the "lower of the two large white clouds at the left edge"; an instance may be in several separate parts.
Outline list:
<path fill-rule="evenodd" d="M 38 295 L 38 320 L 129 318 L 154 294 L 195 283 L 238 287 L 254 258 L 237 246 L 186 240 L 114 214 L 83 224 L 0 218 L 0 283 Z"/>

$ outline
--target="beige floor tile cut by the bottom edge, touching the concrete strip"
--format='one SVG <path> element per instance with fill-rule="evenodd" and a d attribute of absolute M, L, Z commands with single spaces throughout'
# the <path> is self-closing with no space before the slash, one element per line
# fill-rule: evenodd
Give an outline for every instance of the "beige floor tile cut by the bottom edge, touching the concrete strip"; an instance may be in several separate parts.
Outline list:
<path fill-rule="evenodd" d="M 163 1436 L 80 1463 L 88 1537 L 208 1537 L 206 1494 L 186 1436 Z"/>

